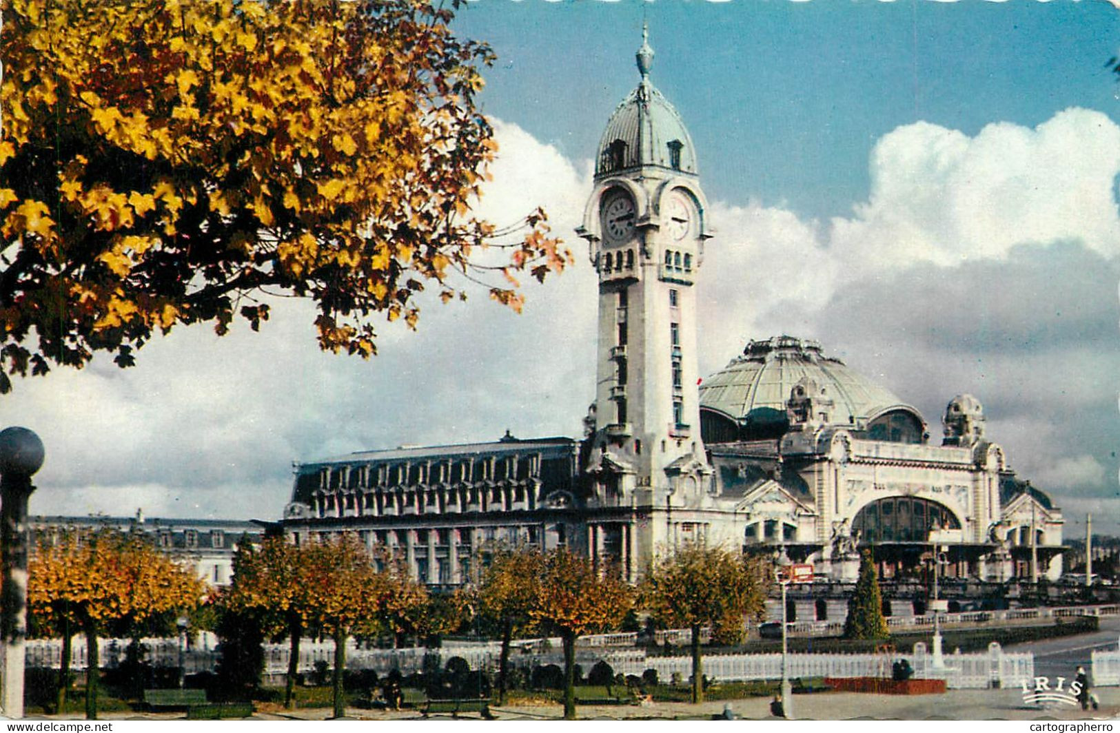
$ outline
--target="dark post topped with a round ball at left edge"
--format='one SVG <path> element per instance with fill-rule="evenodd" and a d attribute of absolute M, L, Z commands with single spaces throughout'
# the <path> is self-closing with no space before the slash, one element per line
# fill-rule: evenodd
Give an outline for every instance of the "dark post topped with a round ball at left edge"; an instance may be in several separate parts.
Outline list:
<path fill-rule="evenodd" d="M 26 427 L 0 431 L 0 707 L 24 717 L 24 642 L 27 639 L 27 499 L 43 466 L 39 436 Z"/>

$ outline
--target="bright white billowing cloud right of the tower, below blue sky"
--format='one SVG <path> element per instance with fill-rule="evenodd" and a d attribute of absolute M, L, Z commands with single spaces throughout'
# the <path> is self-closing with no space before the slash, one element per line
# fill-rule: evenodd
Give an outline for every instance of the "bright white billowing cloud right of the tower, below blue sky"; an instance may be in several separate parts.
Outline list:
<path fill-rule="evenodd" d="M 1118 169 L 1120 128 L 1090 110 L 1065 110 L 1034 130 L 995 123 L 976 138 L 905 125 L 876 144 L 870 197 L 852 218 L 832 220 L 830 247 L 865 270 L 999 259 L 1016 244 L 1055 239 L 1111 256 Z"/>

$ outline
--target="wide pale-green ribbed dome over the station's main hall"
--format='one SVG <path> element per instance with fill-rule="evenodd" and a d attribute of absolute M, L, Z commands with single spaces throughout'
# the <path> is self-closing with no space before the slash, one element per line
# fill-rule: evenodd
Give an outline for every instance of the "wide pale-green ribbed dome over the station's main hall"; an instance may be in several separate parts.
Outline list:
<path fill-rule="evenodd" d="M 888 417 L 898 416 L 906 423 L 906 434 L 898 440 L 922 439 L 925 421 L 915 407 L 840 359 L 824 356 L 819 342 L 790 336 L 747 344 L 740 356 L 704 378 L 700 408 L 734 420 L 741 439 L 769 438 L 775 429 L 784 432 L 790 395 L 805 378 L 815 382 L 832 401 L 833 424 L 892 440 Z"/>

